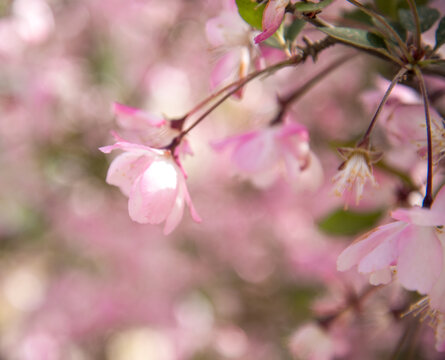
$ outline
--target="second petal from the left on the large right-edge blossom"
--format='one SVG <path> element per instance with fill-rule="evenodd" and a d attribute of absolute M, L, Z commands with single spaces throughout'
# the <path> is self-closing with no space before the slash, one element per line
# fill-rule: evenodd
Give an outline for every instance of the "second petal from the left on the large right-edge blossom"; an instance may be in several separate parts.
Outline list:
<path fill-rule="evenodd" d="M 358 265 L 358 272 L 370 273 L 395 265 L 399 256 L 399 243 L 405 238 L 413 236 L 413 226 L 402 224 L 398 231 L 385 236 L 385 240 L 370 251 Z"/>

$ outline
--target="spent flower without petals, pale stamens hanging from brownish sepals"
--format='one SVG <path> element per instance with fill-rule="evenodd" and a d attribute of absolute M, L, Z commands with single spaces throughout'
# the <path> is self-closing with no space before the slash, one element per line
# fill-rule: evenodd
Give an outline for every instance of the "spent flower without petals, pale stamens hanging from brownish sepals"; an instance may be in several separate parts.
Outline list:
<path fill-rule="evenodd" d="M 349 198 L 350 192 L 355 190 L 355 202 L 358 205 L 366 182 L 369 180 L 372 185 L 377 186 L 371 164 L 378 161 L 381 154 L 361 148 L 340 148 L 338 152 L 345 161 L 332 178 L 335 183 L 334 193 L 343 196 L 347 192 L 346 197 Z"/>

